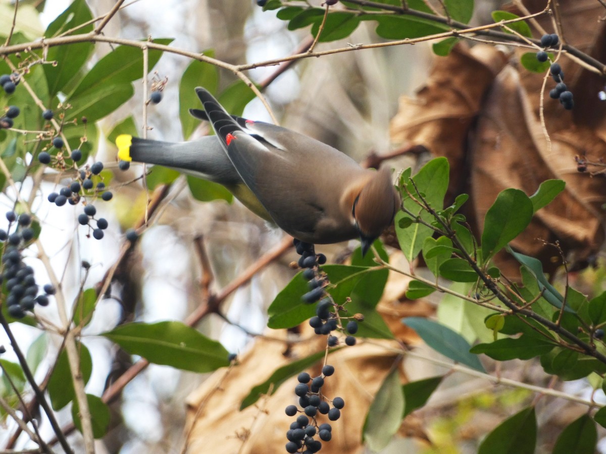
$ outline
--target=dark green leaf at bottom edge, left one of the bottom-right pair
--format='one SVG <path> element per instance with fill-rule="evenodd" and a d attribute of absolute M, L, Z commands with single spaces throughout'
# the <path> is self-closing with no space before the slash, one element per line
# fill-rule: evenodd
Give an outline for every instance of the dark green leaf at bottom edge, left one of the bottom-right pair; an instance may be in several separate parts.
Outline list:
<path fill-rule="evenodd" d="M 535 447 L 536 414 L 534 407 L 527 407 L 490 432 L 478 454 L 534 454 Z"/>

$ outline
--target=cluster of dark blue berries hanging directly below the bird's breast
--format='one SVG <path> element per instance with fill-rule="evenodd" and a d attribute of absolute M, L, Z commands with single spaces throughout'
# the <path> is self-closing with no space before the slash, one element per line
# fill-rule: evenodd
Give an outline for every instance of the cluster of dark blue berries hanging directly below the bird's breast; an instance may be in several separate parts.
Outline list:
<path fill-rule="evenodd" d="M 356 314 L 353 317 L 345 317 L 345 315 L 337 315 L 337 311 L 344 311 L 344 306 L 338 306 L 333 302 L 330 295 L 327 294 L 325 288 L 328 285 L 328 276 L 319 268 L 320 265 L 326 263 L 324 254 L 316 255 L 314 246 L 309 243 L 304 243 L 299 240 L 294 241 L 296 251 L 299 258 L 299 266 L 305 268 L 302 275 L 308 281 L 310 291 L 305 293 L 301 299 L 306 304 L 313 304 L 319 301 L 316 306 L 316 315 L 309 320 L 310 326 L 318 335 L 328 335 L 328 346 L 334 347 L 339 343 L 339 338 L 335 335 L 330 335 L 331 332 L 338 330 L 347 332 L 345 344 L 352 346 L 356 344 L 356 338 L 353 334 L 358 332 L 358 321 L 364 320 L 362 314 Z M 348 321 L 345 328 L 342 326 L 342 320 L 353 318 L 355 320 Z"/>

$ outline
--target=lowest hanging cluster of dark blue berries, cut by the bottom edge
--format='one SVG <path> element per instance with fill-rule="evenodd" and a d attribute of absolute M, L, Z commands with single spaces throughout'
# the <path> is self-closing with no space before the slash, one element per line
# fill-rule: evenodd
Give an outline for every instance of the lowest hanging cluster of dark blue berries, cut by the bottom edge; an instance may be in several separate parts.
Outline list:
<path fill-rule="evenodd" d="M 329 423 L 318 424 L 318 416 L 327 415 L 330 421 L 341 418 L 341 409 L 345 406 L 345 401 L 341 397 L 335 397 L 331 401 L 331 407 L 322 394 L 324 379 L 333 373 L 335 373 L 335 367 L 330 364 L 322 367 L 322 374 L 318 377 L 311 378 L 307 372 L 299 373 L 297 377 L 299 383 L 295 386 L 295 394 L 299 396 L 299 406 L 302 410 L 299 410 L 296 405 L 289 405 L 285 409 L 288 416 L 301 413 L 297 416 L 296 421 L 290 424 L 290 429 L 286 432 L 288 439 L 286 451 L 288 453 L 318 452 L 322 449 L 322 441 L 330 441 L 332 438 L 332 427 Z M 319 440 L 315 436 L 318 436 Z"/>

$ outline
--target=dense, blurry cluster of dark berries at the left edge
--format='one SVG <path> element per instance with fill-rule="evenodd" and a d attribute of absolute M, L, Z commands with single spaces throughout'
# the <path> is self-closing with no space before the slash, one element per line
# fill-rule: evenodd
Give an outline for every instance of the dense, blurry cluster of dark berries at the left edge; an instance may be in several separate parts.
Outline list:
<path fill-rule="evenodd" d="M 32 217 L 25 213 L 17 216 L 15 211 L 8 211 L 6 219 L 8 231 L 0 229 L 0 241 L 5 243 L 0 282 L 5 283 L 8 291 L 6 297 L 8 315 L 13 318 L 23 318 L 25 312 L 33 311 L 36 303 L 47 306 L 48 296 L 55 294 L 55 288 L 47 284 L 44 286 L 44 294 L 38 294 L 34 270 L 23 263 L 21 251 L 34 237 L 34 231 L 30 226 Z M 12 229 L 13 225 L 15 225 L 14 229 Z"/>

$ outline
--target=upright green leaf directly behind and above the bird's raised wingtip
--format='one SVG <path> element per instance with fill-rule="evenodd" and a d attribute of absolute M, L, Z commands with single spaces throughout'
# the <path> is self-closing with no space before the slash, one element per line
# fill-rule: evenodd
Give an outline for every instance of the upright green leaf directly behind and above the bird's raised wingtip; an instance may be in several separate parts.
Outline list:
<path fill-rule="evenodd" d="M 214 57 L 215 52 L 207 50 L 205 56 Z M 204 87 L 210 93 L 216 94 L 219 87 L 219 71 L 215 65 L 193 60 L 185 68 L 179 82 L 179 119 L 183 138 L 189 139 L 191 133 L 198 127 L 200 121 L 189 113 L 191 108 L 199 108 L 200 102 L 196 96 L 196 87 Z"/>

